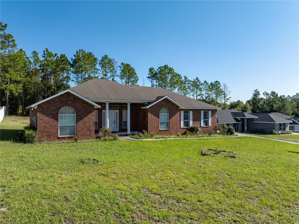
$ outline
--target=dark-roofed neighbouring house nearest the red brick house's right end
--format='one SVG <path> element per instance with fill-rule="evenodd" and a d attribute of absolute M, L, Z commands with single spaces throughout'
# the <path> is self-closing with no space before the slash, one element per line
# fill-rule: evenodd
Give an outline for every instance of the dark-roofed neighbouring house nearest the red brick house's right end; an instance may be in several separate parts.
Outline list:
<path fill-rule="evenodd" d="M 239 112 L 237 110 L 219 110 L 217 113 L 217 124 L 226 124 L 234 127 L 235 131 L 247 132 L 247 119 L 257 118 L 254 115 Z"/>

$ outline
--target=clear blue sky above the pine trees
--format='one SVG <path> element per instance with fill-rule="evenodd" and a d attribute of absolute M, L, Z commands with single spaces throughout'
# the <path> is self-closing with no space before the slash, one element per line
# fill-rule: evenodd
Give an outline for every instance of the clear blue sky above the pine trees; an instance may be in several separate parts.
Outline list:
<path fill-rule="evenodd" d="M 254 89 L 299 92 L 298 2 L 1 1 L 0 19 L 28 55 L 108 54 L 130 63 L 140 85 L 149 67 L 168 64 L 245 101 Z"/>

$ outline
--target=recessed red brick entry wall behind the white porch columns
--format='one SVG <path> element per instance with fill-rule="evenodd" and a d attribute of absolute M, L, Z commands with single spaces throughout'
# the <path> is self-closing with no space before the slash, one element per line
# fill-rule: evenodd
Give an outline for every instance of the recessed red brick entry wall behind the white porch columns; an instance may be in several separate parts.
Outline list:
<path fill-rule="evenodd" d="M 106 103 L 97 103 L 101 106 L 98 112 L 98 122 L 99 129 L 102 128 L 102 109 L 103 105 Z M 119 132 L 126 132 L 127 129 L 123 128 L 123 105 L 127 106 L 127 103 L 109 103 L 109 105 L 118 105 L 118 109 L 109 109 L 109 110 L 118 110 L 119 111 Z M 147 130 L 147 109 L 141 109 L 144 106 L 144 103 L 131 103 L 130 104 L 130 120 L 131 120 L 131 131 L 140 131 Z M 98 130 L 95 130 L 95 133 L 98 133 Z"/>

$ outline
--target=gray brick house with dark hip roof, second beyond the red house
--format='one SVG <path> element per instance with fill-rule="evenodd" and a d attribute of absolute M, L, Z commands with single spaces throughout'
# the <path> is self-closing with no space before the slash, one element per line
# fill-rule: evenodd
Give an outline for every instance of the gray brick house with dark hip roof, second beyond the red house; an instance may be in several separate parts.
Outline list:
<path fill-rule="evenodd" d="M 289 130 L 289 124 L 292 121 L 274 114 L 276 113 L 251 113 L 251 115 L 257 116 L 257 118 L 247 120 L 247 131 L 263 130 L 265 133 L 271 133 L 273 130 Z"/>

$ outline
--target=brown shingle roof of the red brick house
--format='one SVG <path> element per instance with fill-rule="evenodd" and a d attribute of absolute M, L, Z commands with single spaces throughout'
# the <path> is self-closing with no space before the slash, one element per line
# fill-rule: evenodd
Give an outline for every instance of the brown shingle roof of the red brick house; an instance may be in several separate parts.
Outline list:
<path fill-rule="evenodd" d="M 184 108 L 219 109 L 211 104 L 166 89 L 146 86 L 127 86 L 107 79 L 92 79 L 72 87 L 71 90 L 90 100 L 136 100 L 151 102 L 158 100 L 158 97 L 169 96 Z"/>

